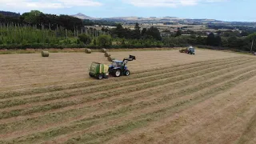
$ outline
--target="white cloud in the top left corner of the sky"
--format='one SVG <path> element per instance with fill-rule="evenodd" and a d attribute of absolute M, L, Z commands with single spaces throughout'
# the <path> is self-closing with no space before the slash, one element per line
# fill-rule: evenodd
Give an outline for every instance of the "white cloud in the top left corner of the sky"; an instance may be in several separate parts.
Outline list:
<path fill-rule="evenodd" d="M 0 7 L 18 9 L 59 9 L 74 6 L 102 6 L 94 0 L 0 0 Z"/>

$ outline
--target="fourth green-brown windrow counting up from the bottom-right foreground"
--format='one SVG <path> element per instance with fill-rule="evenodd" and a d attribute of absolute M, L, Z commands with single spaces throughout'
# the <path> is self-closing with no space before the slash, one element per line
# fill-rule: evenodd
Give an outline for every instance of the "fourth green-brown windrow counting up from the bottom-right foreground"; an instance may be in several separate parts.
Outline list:
<path fill-rule="evenodd" d="M 242 64 L 242 63 L 240 63 L 240 64 Z M 207 70 L 207 73 L 210 73 L 213 70 L 218 70 L 220 68 L 225 68 L 226 66 L 238 66 L 238 65 L 239 65 L 239 63 L 232 63 L 232 64 L 224 65 L 224 66 L 215 66 L 215 67 L 210 68 L 210 69 L 207 69 L 207 68 L 209 68 L 211 66 L 205 66 L 204 68 Z M 202 67 L 201 67 L 201 69 L 202 69 Z M 195 76 L 199 75 L 199 74 L 197 74 L 198 68 L 195 68 L 195 70 L 190 70 L 190 72 L 193 72 L 193 71 L 196 71 L 195 72 L 196 74 L 194 74 L 194 75 L 193 75 L 193 73 L 185 74 L 182 77 L 176 77 L 176 78 L 173 78 L 173 77 L 177 76 L 177 74 L 183 74 L 183 73 L 186 73 L 186 72 L 183 72 L 183 73 L 178 72 L 178 73 L 174 74 L 174 76 L 171 75 L 171 74 L 162 74 L 160 77 L 147 78 L 146 80 L 150 80 L 150 82 L 146 81 L 146 83 L 143 83 L 143 85 L 141 85 L 141 86 L 130 86 L 129 89 L 127 89 L 127 87 L 125 87 L 122 90 L 114 90 L 114 91 L 108 92 L 108 93 L 96 94 L 94 96 L 89 96 L 89 97 L 86 97 L 86 98 L 80 98 L 80 99 L 74 100 L 74 101 L 64 101 L 64 102 L 50 103 L 50 104 L 46 104 L 44 106 L 34 106 L 31 109 L 26 109 L 25 111 L 22 110 L 22 109 L 11 110 L 11 111 L 3 111 L 2 113 L 0 113 L 0 119 L 1 118 L 10 118 L 10 117 L 13 117 L 13 116 L 24 115 L 24 114 L 32 114 L 32 113 L 35 113 L 35 112 L 38 112 L 38 111 L 42 112 L 42 111 L 46 111 L 46 110 L 59 109 L 59 108 L 66 107 L 66 106 L 78 105 L 78 104 L 81 104 L 81 103 L 84 103 L 84 102 L 94 101 L 96 99 L 102 99 L 102 98 L 105 98 L 105 97 L 111 97 L 113 95 L 123 94 L 124 92 L 129 93 L 129 92 L 134 92 L 136 90 L 144 90 L 146 88 L 150 88 L 150 87 L 154 87 L 154 86 L 160 86 L 160 84 L 164 85 L 164 84 L 167 84 L 167 83 L 170 83 L 170 82 L 177 82 L 179 80 L 183 80 L 184 78 L 190 78 L 191 76 L 195 77 Z M 168 76 L 170 78 L 168 78 Z M 159 78 L 160 78 L 160 80 L 159 80 Z M 154 82 L 153 80 L 155 80 L 156 82 Z M 162 81 L 162 80 L 166 80 L 166 81 Z M 168 81 L 168 80 L 173 80 L 173 81 Z M 136 81 L 134 81 L 134 82 L 136 82 Z M 154 82 L 154 84 L 152 82 Z M 126 91 L 124 91 L 124 90 L 126 90 Z"/>

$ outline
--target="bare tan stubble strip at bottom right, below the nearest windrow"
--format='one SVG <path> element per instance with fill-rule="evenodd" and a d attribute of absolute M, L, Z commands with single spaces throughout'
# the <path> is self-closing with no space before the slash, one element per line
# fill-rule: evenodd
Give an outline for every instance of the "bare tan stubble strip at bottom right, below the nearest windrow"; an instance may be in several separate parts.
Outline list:
<path fill-rule="evenodd" d="M 247 84 L 254 82 L 255 78 L 256 77 L 250 78 L 249 81 L 240 83 L 239 85 L 229 90 L 230 92 L 232 92 L 232 94 L 230 94 L 229 91 L 226 91 L 222 94 L 218 94 L 216 98 L 210 98 L 206 100 L 206 102 L 194 106 L 190 110 L 186 110 L 182 113 L 179 113 L 176 116 L 173 116 L 172 118 L 166 118 L 168 120 L 161 120 L 161 122 L 155 122 L 155 124 L 151 125 L 152 127 L 150 127 L 149 129 L 146 129 L 146 127 L 144 127 L 143 130 L 139 130 L 131 135 L 123 134 L 122 136 L 114 138 L 107 143 L 144 143 L 147 142 L 150 138 L 154 138 L 152 139 L 152 141 L 150 141 L 151 143 L 199 143 L 198 141 L 193 141 L 195 139 L 194 137 L 200 138 L 200 143 L 213 143 L 212 141 L 210 141 L 210 139 L 214 138 L 214 136 L 219 135 L 212 134 L 213 132 L 223 133 L 220 136 L 225 137 L 226 139 L 228 139 L 228 142 L 232 143 L 229 137 L 232 135 L 232 133 L 234 134 L 238 132 L 238 130 L 241 130 L 239 129 L 239 127 L 235 128 L 236 130 L 233 130 L 232 125 L 238 126 L 236 124 L 242 124 L 247 122 L 247 120 L 245 120 L 246 113 L 248 113 L 246 112 L 246 110 L 255 110 L 255 98 L 254 101 L 250 101 L 250 105 L 248 104 L 248 99 L 254 97 L 253 93 L 255 90 L 251 90 L 252 85 L 250 85 L 250 87 L 247 86 Z M 245 90 L 245 93 L 241 95 L 240 90 Z M 251 108 L 251 106 L 254 106 L 254 108 Z M 230 114 L 232 114 L 232 117 L 228 117 Z M 240 114 L 242 114 L 243 116 Z M 236 116 L 239 118 L 234 118 Z M 222 124 L 220 124 L 219 119 L 222 120 Z M 223 122 L 226 122 L 227 124 Z M 222 130 L 216 130 L 216 128 L 214 129 L 213 127 L 210 128 L 210 125 L 218 125 L 218 127 L 222 126 Z M 202 132 L 200 132 L 201 130 Z M 203 131 L 205 131 L 205 133 L 203 133 Z M 232 131 L 231 134 L 229 133 L 229 131 Z M 143 138 L 139 138 L 139 135 L 141 134 L 143 134 Z M 238 134 L 234 135 L 235 137 L 238 136 Z M 225 138 L 214 139 L 225 140 Z M 207 142 L 202 141 L 203 139 L 207 140 Z"/>

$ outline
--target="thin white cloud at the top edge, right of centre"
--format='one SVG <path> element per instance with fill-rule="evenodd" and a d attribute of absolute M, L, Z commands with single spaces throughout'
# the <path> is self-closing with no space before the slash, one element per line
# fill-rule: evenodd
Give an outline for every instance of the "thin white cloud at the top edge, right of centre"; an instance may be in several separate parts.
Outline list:
<path fill-rule="evenodd" d="M 123 0 L 139 7 L 177 7 L 195 6 L 200 2 L 226 2 L 227 0 Z"/>

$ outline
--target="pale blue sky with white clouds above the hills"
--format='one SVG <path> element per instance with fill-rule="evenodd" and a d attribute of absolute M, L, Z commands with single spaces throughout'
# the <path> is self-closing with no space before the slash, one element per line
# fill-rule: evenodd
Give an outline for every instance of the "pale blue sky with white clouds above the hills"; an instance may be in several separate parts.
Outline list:
<path fill-rule="evenodd" d="M 86 14 L 95 18 L 178 17 L 256 22 L 256 0 L 0 0 L 0 10 Z"/>

